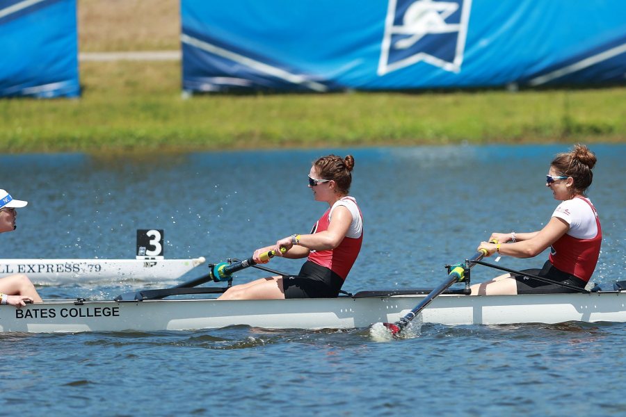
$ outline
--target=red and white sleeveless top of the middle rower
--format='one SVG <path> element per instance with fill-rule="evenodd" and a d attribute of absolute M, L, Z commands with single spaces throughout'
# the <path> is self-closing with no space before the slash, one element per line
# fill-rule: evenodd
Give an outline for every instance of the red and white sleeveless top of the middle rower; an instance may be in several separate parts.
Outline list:
<path fill-rule="evenodd" d="M 346 233 L 346 237 L 344 237 L 342 243 L 339 243 L 339 246 L 335 247 L 333 250 L 311 251 L 308 260 L 318 265 L 325 266 L 339 275 L 339 277 L 342 277 L 345 281 L 348 272 L 350 272 L 352 265 L 354 265 L 357 259 L 363 243 L 363 218 L 356 204 L 356 200 L 353 197 L 343 197 L 335 202 L 335 204 L 332 204 L 332 207 L 328 208 L 326 213 L 317 220 L 312 233 L 328 230 L 328 225 L 332 218 L 332 211 L 335 210 L 337 206 L 345 206 L 352 214 L 352 223 Z"/>

